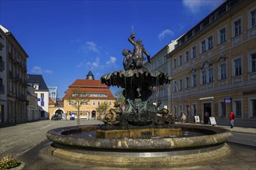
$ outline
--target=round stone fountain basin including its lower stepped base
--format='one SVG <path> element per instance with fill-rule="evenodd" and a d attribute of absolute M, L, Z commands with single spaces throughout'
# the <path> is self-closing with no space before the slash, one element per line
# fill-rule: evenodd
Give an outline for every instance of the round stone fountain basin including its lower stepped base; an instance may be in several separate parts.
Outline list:
<path fill-rule="evenodd" d="M 176 124 L 176 128 L 182 128 L 182 136 L 97 138 L 100 125 L 85 125 L 53 129 L 47 132 L 47 138 L 54 142 L 52 155 L 93 165 L 174 167 L 206 163 L 230 154 L 225 142 L 232 134 L 226 129 L 189 124 Z"/>

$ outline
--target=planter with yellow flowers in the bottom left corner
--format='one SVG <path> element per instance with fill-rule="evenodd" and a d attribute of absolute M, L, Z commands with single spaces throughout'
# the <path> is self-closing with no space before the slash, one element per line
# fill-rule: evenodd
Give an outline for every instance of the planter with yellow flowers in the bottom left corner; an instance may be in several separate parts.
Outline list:
<path fill-rule="evenodd" d="M 0 160 L 0 170 L 4 169 L 12 169 L 12 170 L 19 170 L 25 167 L 25 164 L 23 162 L 20 162 L 14 158 L 12 158 L 11 155 L 4 156 Z"/>

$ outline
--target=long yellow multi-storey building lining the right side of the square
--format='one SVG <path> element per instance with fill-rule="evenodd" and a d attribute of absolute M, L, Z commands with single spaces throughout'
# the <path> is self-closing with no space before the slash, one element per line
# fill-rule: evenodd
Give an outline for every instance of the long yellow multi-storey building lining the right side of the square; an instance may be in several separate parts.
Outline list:
<path fill-rule="evenodd" d="M 177 40 L 171 110 L 256 128 L 256 1 L 228 0 Z"/>

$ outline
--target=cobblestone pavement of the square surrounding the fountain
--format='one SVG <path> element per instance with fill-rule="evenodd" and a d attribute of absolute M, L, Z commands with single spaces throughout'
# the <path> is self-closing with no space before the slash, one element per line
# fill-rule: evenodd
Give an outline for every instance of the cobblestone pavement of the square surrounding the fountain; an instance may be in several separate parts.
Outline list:
<path fill-rule="evenodd" d="M 94 165 L 83 165 L 66 162 L 50 155 L 51 142 L 46 133 L 50 129 L 65 126 L 75 126 L 77 121 L 37 121 L 27 124 L 18 124 L 12 127 L 0 128 L 0 156 L 12 155 L 14 158 L 25 162 L 25 169 L 139 169 L 139 168 L 112 168 Z M 102 121 L 86 121 L 84 124 L 101 124 Z M 229 143 L 231 153 L 227 158 L 215 160 L 202 165 L 191 165 L 178 168 L 162 169 L 209 169 L 209 170 L 256 170 L 256 150 L 254 147 Z M 157 167 L 157 165 L 156 165 Z M 140 168 L 143 169 L 143 168 Z M 156 169 L 156 168 L 147 168 Z M 160 169 L 160 168 L 157 168 Z"/>

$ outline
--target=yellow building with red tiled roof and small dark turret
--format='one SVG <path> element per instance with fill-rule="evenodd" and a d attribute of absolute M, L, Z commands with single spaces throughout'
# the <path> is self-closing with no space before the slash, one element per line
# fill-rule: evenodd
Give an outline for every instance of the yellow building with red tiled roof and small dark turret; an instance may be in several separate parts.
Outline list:
<path fill-rule="evenodd" d="M 64 96 L 64 111 L 67 120 L 74 117 L 85 119 L 102 119 L 114 107 L 116 98 L 111 90 L 100 80 L 95 80 L 91 71 L 86 79 L 78 79 L 72 83 Z"/>

